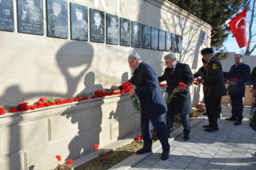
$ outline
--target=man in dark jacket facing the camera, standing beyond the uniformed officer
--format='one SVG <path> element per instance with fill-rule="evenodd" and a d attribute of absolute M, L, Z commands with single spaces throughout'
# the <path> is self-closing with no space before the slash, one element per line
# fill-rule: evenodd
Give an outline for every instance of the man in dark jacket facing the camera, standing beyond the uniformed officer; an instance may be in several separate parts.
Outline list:
<path fill-rule="evenodd" d="M 231 98 L 231 118 L 225 120 L 235 120 L 234 125 L 242 124 L 242 97 L 244 97 L 246 82 L 251 79 L 251 69 L 248 65 L 242 63 L 242 55 L 236 54 L 235 65 L 232 65 L 229 71 L 227 84 L 229 84 L 229 95 Z"/>

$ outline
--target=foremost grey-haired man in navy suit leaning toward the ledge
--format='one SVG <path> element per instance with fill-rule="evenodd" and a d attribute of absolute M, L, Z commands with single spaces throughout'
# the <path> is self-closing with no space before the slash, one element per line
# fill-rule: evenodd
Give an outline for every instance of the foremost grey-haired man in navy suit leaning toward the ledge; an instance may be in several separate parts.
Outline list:
<path fill-rule="evenodd" d="M 141 60 L 137 53 L 128 56 L 129 66 L 132 68 L 132 78 L 128 82 L 134 84 L 130 95 L 137 95 L 141 103 L 141 135 L 144 141 L 142 149 L 137 150 L 136 154 L 152 152 L 152 122 L 158 139 L 162 144 L 161 159 L 169 158 L 170 145 L 168 142 L 167 131 L 165 129 L 164 114 L 167 111 L 165 99 L 162 97 L 159 82 L 154 69 Z M 122 90 L 122 86 L 112 86 L 113 90 Z"/>

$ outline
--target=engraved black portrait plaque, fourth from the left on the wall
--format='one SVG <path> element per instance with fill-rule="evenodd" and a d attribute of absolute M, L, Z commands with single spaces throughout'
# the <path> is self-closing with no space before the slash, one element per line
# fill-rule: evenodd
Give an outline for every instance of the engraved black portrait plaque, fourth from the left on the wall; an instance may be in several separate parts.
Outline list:
<path fill-rule="evenodd" d="M 70 3 L 71 39 L 88 41 L 88 7 Z"/>

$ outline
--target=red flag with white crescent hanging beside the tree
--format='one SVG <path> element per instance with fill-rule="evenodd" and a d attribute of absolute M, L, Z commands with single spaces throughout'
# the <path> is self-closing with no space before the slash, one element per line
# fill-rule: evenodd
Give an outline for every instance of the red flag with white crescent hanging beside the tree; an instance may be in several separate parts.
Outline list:
<path fill-rule="evenodd" d="M 233 32 L 233 35 L 235 35 L 236 41 L 238 42 L 238 46 L 240 48 L 248 46 L 246 39 L 246 16 L 247 8 L 229 22 L 229 26 Z"/>

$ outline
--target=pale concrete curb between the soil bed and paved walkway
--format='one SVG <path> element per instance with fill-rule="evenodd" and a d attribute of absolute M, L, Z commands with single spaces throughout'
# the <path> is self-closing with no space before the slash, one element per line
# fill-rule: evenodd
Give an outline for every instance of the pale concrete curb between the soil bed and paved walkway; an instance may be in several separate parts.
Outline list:
<path fill-rule="evenodd" d="M 193 128 L 193 126 L 199 124 L 203 120 L 205 120 L 205 118 L 197 117 L 194 120 L 190 121 L 191 129 Z M 179 137 L 180 135 L 182 135 L 182 133 L 183 133 L 183 126 L 180 126 L 179 129 L 176 129 L 175 131 L 173 131 L 173 136 Z M 169 143 L 171 141 L 173 141 L 173 139 L 174 138 L 169 139 Z M 151 153 L 146 153 L 146 154 L 141 154 L 141 155 L 133 154 L 132 156 L 130 156 L 129 158 L 126 158 L 122 162 L 117 163 L 117 165 L 111 167 L 110 169 L 118 169 L 118 170 L 130 169 L 130 168 L 134 167 L 135 165 L 137 165 L 138 163 L 140 163 L 145 158 L 147 158 L 148 156 L 150 156 L 153 153 L 155 153 L 161 147 L 162 147 L 162 145 L 161 145 L 160 141 L 158 140 L 158 141 L 153 143 L 152 152 Z"/>

